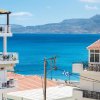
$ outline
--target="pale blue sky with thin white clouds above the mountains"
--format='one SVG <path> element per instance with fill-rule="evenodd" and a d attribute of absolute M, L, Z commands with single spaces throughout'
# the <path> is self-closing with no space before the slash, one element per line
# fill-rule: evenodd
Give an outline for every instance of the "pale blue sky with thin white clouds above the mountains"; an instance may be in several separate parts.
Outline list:
<path fill-rule="evenodd" d="M 100 0 L 0 0 L 0 9 L 12 12 L 11 24 L 35 26 L 100 14 Z"/>

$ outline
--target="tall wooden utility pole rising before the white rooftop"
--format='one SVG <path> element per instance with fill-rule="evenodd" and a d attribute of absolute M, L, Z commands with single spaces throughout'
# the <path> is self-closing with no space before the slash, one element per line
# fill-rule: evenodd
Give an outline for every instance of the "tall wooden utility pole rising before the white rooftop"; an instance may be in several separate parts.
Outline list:
<path fill-rule="evenodd" d="M 46 87 L 47 87 L 47 61 L 44 58 L 44 100 L 46 100 Z"/>

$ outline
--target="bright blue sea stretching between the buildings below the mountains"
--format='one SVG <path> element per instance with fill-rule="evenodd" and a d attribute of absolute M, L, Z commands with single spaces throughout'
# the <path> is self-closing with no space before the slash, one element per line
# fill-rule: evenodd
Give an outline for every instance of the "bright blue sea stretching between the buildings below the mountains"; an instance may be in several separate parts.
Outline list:
<path fill-rule="evenodd" d="M 56 56 L 58 70 L 51 71 L 54 65 L 47 62 L 47 76 L 55 79 L 69 79 L 64 75 L 72 72 L 74 62 L 87 62 L 91 43 L 100 38 L 99 34 L 14 34 L 8 38 L 8 51 L 19 54 L 19 64 L 15 72 L 23 75 L 43 75 L 43 60 Z M 2 51 L 2 38 L 0 38 L 0 51 Z M 78 77 L 71 75 L 71 80 Z"/>

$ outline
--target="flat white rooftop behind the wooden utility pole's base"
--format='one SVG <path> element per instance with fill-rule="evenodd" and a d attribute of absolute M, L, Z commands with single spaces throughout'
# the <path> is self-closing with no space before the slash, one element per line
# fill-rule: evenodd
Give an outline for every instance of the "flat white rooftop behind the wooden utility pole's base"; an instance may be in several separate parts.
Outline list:
<path fill-rule="evenodd" d="M 47 88 L 47 100 L 68 100 L 72 97 L 73 87 L 56 86 Z M 11 92 L 7 94 L 10 99 L 43 100 L 43 89 Z"/>

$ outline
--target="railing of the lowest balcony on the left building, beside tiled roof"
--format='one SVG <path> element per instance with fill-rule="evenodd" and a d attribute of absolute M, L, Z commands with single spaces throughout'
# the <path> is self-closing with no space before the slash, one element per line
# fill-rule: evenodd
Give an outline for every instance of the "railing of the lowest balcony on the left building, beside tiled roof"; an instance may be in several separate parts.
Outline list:
<path fill-rule="evenodd" d="M 15 80 L 9 79 L 7 82 L 0 83 L 0 89 L 15 87 Z"/>

